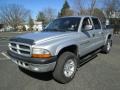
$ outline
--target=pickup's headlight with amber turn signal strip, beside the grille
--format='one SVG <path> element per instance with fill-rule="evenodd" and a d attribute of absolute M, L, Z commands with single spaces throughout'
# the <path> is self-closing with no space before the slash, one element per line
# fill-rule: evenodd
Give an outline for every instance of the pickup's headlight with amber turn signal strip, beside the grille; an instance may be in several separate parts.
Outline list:
<path fill-rule="evenodd" d="M 33 48 L 32 49 L 32 57 L 33 58 L 50 58 L 51 53 L 46 49 Z"/>

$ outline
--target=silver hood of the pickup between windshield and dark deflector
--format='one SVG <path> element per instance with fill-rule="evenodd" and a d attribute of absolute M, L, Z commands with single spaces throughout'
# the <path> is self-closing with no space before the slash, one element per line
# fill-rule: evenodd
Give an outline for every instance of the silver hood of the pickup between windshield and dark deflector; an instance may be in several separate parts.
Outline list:
<path fill-rule="evenodd" d="M 73 32 L 34 32 L 17 36 L 17 38 L 30 39 L 34 42 L 45 42 L 53 39 L 60 39 L 70 35 Z"/>

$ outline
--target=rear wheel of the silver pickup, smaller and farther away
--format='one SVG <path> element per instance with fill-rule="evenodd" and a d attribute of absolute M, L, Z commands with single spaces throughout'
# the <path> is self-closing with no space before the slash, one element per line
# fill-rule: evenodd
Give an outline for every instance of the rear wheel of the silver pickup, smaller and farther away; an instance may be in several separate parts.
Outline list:
<path fill-rule="evenodd" d="M 112 47 L 112 40 L 108 39 L 106 44 L 102 48 L 102 53 L 108 54 Z"/>

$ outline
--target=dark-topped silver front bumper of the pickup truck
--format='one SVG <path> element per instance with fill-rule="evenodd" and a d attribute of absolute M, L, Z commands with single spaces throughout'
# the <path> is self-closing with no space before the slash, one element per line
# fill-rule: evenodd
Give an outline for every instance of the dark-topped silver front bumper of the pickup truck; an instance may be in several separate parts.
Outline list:
<path fill-rule="evenodd" d="M 7 53 L 14 63 L 19 65 L 20 67 L 34 72 L 53 71 L 56 65 L 57 57 L 52 57 L 50 59 L 38 59 L 21 56 L 11 51 L 7 51 Z"/>

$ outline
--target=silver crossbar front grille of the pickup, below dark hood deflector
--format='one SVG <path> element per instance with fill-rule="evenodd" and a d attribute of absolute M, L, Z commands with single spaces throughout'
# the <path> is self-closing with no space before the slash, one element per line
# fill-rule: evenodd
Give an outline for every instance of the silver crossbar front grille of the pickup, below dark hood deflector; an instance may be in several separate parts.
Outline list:
<path fill-rule="evenodd" d="M 9 49 L 17 54 L 23 55 L 23 56 L 31 56 L 31 48 L 30 45 L 24 44 L 24 43 L 18 43 L 18 42 L 10 42 L 9 43 Z"/>

